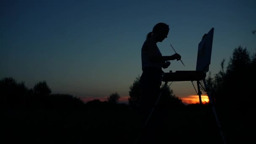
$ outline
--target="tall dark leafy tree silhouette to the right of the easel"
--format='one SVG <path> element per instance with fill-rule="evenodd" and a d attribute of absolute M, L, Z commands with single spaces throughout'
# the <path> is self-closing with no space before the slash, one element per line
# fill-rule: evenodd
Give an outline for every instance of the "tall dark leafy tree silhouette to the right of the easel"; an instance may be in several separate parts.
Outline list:
<path fill-rule="evenodd" d="M 248 80 L 252 80 L 254 74 L 253 61 L 251 61 L 250 53 L 246 48 L 239 46 L 233 51 L 230 57 L 228 66 L 224 68 L 223 60 L 221 62 L 221 70 L 219 73 L 211 77 L 208 76 L 207 82 L 210 87 L 210 92 L 215 98 L 216 103 L 225 107 L 227 104 L 232 108 L 242 108 L 240 105 L 245 105 L 248 101 L 247 90 L 250 85 L 246 85 Z M 248 87 L 249 86 L 249 87 Z M 246 102 L 247 101 L 247 102 Z"/>

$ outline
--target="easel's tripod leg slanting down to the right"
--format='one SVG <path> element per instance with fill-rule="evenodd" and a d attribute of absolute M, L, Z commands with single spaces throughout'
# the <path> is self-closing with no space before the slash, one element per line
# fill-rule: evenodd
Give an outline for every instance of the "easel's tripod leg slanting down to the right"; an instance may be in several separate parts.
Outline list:
<path fill-rule="evenodd" d="M 218 119 L 218 116 L 217 116 L 217 114 L 216 114 L 215 107 L 214 107 L 214 105 L 213 105 L 213 99 L 212 99 L 212 97 L 211 97 L 211 94 L 208 93 L 209 88 L 208 88 L 208 85 L 207 85 L 207 83 L 206 83 L 206 81 L 205 81 L 205 78 L 203 79 L 203 83 L 204 83 L 204 85 L 205 85 L 205 91 L 206 91 L 206 93 L 207 93 L 207 95 L 208 95 L 210 104 L 211 104 L 211 106 L 212 106 L 213 114 L 214 114 L 214 116 L 215 116 L 215 119 L 216 119 L 216 122 L 217 122 L 217 125 L 218 125 L 218 128 L 219 128 L 219 132 L 220 132 L 220 134 L 221 134 L 221 138 L 222 138 L 224 144 L 226 144 L 226 141 L 225 141 L 225 139 L 224 139 L 223 132 L 222 132 L 222 130 L 221 130 L 221 125 L 220 125 L 220 123 L 219 123 L 219 119 Z"/>

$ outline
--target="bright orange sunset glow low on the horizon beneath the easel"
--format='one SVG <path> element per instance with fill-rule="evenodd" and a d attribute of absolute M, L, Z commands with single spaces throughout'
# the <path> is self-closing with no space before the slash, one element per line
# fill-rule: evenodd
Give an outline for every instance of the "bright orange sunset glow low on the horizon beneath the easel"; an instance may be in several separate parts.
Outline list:
<path fill-rule="evenodd" d="M 207 95 L 201 95 L 202 103 L 209 102 Z M 199 96 L 198 95 L 192 95 L 192 96 L 186 96 L 181 98 L 182 102 L 184 104 L 197 104 L 199 103 Z"/>

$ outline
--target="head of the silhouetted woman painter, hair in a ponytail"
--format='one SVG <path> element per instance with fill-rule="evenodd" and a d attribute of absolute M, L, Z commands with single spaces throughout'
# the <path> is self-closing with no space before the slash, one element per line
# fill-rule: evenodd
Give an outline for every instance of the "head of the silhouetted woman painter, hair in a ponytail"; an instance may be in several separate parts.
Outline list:
<path fill-rule="evenodd" d="M 165 23 L 158 23 L 153 27 L 152 32 L 147 34 L 147 39 L 152 35 L 155 35 L 157 42 L 162 42 L 169 33 L 169 25 Z"/>

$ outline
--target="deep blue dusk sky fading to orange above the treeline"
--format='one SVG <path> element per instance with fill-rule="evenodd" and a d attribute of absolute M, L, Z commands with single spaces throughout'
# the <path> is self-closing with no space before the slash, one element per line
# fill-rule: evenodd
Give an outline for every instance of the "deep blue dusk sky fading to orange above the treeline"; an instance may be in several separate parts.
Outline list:
<path fill-rule="evenodd" d="M 185 65 L 170 61 L 164 72 L 195 70 L 198 43 L 214 27 L 214 75 L 238 46 L 256 52 L 255 15 L 255 0 L 2 0 L 0 78 L 28 88 L 45 80 L 52 93 L 84 100 L 115 92 L 127 99 L 142 74 L 141 46 L 158 22 L 170 27 L 157 43 L 162 55 L 175 53 L 171 44 Z M 191 81 L 170 88 L 184 100 L 197 95 Z"/>

